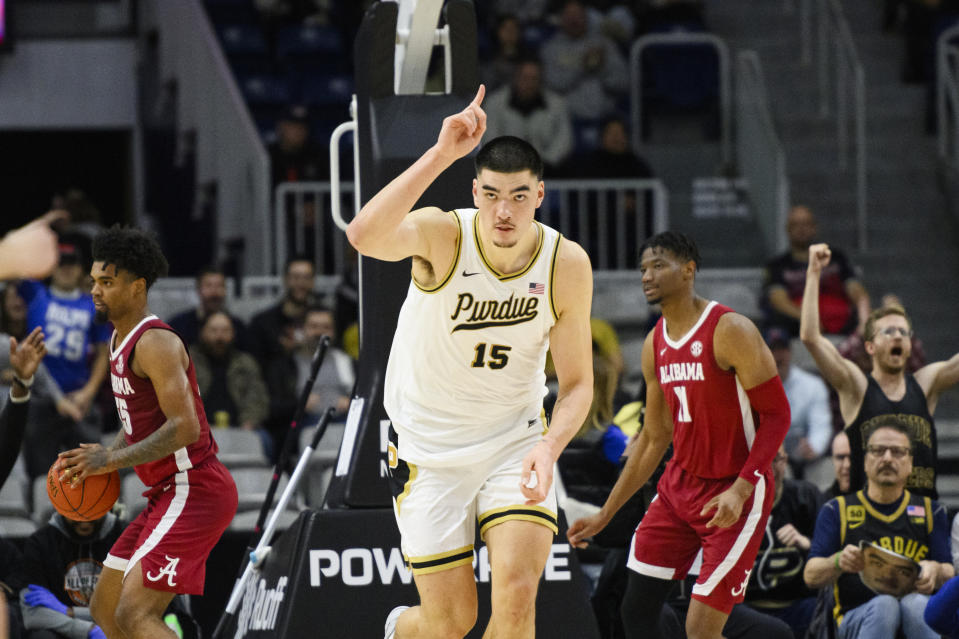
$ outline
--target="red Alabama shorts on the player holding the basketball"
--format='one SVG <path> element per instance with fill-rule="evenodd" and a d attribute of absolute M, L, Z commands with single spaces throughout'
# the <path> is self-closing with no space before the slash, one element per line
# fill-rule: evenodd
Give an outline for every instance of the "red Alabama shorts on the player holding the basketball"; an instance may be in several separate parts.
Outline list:
<path fill-rule="evenodd" d="M 131 521 L 103 562 L 126 575 L 140 563 L 143 585 L 202 595 L 206 559 L 236 514 L 236 484 L 216 458 L 177 473 L 144 495 L 147 507 Z"/>

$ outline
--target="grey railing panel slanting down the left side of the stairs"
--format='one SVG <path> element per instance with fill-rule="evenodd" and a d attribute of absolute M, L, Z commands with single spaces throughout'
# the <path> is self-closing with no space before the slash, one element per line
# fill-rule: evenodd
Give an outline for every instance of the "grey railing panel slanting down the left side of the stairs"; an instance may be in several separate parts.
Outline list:
<path fill-rule="evenodd" d="M 756 222 L 772 255 L 786 249 L 786 154 L 773 125 L 759 56 L 741 51 L 736 62 L 736 162 L 749 183 Z"/>

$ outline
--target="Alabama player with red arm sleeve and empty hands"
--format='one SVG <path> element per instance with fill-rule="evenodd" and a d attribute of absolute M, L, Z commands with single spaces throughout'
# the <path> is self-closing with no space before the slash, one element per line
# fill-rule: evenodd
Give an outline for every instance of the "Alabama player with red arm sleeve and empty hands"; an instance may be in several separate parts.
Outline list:
<path fill-rule="evenodd" d="M 599 513 L 573 523 L 577 547 L 652 475 L 673 443 L 658 496 L 633 536 L 623 598 L 626 636 L 659 637 L 672 580 L 702 566 L 686 618 L 690 639 L 719 639 L 743 600 L 774 490 L 772 460 L 789 429 L 789 404 L 759 331 L 696 295 L 699 250 L 668 231 L 640 249 L 643 292 L 663 317 L 643 345 L 646 419 Z"/>

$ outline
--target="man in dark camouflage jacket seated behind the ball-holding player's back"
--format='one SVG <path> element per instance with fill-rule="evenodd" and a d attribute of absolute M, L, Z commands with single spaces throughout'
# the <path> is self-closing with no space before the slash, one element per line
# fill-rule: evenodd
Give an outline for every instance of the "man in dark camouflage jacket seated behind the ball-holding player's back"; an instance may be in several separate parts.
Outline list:
<path fill-rule="evenodd" d="M 272 456 L 272 442 L 261 428 L 270 404 L 266 384 L 256 360 L 237 348 L 233 321 L 225 311 L 214 311 L 203 319 L 190 356 L 210 424 L 257 432 L 264 453 Z"/>

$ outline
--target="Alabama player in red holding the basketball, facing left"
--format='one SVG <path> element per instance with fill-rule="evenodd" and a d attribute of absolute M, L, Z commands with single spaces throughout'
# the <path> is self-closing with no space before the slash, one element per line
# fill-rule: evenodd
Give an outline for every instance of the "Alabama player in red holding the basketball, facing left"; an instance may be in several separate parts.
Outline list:
<path fill-rule="evenodd" d="M 110 381 L 122 429 L 109 448 L 61 453 L 61 479 L 132 466 L 149 501 L 104 561 L 90 612 L 109 639 L 173 638 L 162 615 L 177 593 L 202 594 L 207 556 L 236 512 L 236 485 L 216 457 L 193 362 L 147 309 L 167 271 L 156 241 L 113 228 L 93 241 L 93 302 L 113 322 Z"/>

